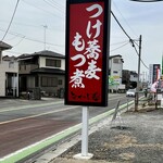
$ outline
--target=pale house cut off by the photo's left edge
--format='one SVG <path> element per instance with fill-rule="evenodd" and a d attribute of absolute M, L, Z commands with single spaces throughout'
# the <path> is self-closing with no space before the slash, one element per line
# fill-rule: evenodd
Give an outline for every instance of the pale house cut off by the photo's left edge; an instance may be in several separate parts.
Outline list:
<path fill-rule="evenodd" d="M 18 97 L 18 63 L 14 57 L 2 57 L 2 51 L 11 48 L 0 41 L 0 97 Z"/>

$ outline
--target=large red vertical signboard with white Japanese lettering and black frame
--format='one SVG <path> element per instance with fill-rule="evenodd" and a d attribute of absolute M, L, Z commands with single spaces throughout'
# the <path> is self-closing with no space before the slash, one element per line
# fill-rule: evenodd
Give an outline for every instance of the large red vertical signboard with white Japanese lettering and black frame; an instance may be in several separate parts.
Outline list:
<path fill-rule="evenodd" d="M 109 0 L 67 0 L 65 104 L 108 105 Z"/>

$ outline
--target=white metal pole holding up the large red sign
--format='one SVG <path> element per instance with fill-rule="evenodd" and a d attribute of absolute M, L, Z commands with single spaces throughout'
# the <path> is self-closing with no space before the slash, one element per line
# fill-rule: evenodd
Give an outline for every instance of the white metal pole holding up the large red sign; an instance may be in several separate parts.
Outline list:
<path fill-rule="evenodd" d="M 82 156 L 88 156 L 88 106 L 83 106 Z"/>

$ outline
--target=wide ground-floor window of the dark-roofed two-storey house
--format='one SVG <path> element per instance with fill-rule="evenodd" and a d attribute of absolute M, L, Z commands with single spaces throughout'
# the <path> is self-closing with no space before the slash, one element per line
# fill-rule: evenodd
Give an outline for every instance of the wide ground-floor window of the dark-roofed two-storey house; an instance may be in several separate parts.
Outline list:
<path fill-rule="evenodd" d="M 58 86 L 58 79 L 55 77 L 41 77 L 41 86 L 42 87 L 57 87 Z"/>

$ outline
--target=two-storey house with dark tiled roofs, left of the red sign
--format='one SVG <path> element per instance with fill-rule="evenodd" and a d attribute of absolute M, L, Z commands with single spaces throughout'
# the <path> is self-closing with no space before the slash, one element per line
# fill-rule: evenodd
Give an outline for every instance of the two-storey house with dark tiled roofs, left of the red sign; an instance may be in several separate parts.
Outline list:
<path fill-rule="evenodd" d="M 45 96 L 57 96 L 64 88 L 64 55 L 45 50 L 22 54 L 17 61 L 21 92 L 38 88 Z"/>

